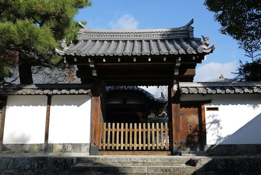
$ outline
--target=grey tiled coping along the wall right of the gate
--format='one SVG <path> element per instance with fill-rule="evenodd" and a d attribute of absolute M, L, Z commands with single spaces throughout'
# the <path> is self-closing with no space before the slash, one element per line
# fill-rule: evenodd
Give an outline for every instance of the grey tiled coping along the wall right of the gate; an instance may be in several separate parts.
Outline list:
<path fill-rule="evenodd" d="M 180 82 L 181 93 L 261 93 L 261 82 Z"/>

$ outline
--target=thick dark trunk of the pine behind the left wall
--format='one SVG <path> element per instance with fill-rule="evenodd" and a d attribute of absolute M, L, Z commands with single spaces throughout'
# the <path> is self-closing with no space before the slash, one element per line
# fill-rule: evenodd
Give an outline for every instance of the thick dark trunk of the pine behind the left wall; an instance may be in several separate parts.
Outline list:
<path fill-rule="evenodd" d="M 27 60 L 24 63 L 18 64 L 19 78 L 21 84 L 33 84 L 31 61 Z"/>

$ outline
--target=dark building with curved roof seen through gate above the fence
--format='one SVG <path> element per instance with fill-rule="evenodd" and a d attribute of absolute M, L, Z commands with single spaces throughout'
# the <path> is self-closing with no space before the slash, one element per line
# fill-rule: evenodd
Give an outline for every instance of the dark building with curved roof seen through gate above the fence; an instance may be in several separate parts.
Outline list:
<path fill-rule="evenodd" d="M 168 100 L 140 87 L 106 88 L 106 123 L 168 122 Z"/>

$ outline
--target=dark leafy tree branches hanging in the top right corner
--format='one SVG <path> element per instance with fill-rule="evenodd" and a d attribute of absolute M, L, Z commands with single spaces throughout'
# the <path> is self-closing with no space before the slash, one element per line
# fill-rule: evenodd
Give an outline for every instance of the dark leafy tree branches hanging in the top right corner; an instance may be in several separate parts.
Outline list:
<path fill-rule="evenodd" d="M 215 13 L 222 34 L 233 37 L 244 50 L 261 50 L 260 0 L 205 0 L 204 5 Z"/>

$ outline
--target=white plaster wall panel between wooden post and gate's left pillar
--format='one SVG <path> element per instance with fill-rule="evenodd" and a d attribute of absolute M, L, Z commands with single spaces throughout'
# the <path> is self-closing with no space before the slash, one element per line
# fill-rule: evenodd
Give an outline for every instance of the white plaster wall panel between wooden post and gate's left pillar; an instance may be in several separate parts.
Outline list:
<path fill-rule="evenodd" d="M 90 143 L 89 95 L 54 95 L 50 108 L 49 143 Z"/>

